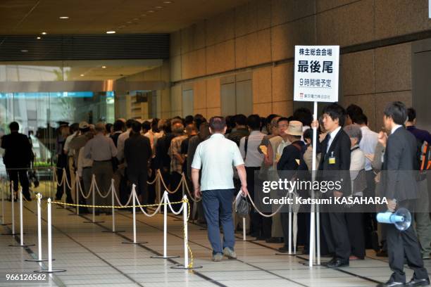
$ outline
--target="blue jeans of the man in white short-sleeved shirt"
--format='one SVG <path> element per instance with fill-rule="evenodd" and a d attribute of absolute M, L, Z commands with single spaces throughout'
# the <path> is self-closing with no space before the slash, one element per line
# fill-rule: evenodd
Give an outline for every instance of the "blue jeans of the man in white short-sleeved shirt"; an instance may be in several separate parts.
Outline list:
<path fill-rule="evenodd" d="M 232 219 L 232 200 L 235 189 L 213 189 L 202 191 L 202 204 L 208 227 L 208 239 L 213 254 L 223 253 L 228 247 L 234 250 L 235 235 Z M 220 239 L 219 222 L 223 227 L 223 245 Z"/>

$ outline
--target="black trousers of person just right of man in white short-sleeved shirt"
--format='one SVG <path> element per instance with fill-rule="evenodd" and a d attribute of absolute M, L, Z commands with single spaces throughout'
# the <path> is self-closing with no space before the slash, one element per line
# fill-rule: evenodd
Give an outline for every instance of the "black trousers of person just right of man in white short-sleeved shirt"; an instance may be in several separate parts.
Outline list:
<path fill-rule="evenodd" d="M 256 200 L 256 192 L 258 191 L 255 191 L 256 183 L 254 180 L 254 172 L 260 169 L 261 167 L 246 167 L 247 189 L 250 193 L 250 197 L 254 200 L 255 203 L 258 203 L 259 200 Z M 267 234 L 264 234 L 263 216 L 258 214 L 256 210 L 251 209 L 251 212 L 250 212 L 250 233 L 252 234 L 251 236 L 270 237 L 271 236 L 270 229 L 271 227 L 269 227 L 269 229 L 266 229 L 267 231 L 269 230 L 269 236 L 268 236 L 268 232 L 266 232 Z"/>

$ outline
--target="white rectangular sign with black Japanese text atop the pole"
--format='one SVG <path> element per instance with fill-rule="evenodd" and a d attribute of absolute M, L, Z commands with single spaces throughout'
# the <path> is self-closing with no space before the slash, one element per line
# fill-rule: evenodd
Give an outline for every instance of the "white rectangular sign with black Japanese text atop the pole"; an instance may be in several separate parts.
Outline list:
<path fill-rule="evenodd" d="M 295 46 L 294 101 L 338 101 L 339 46 Z"/>

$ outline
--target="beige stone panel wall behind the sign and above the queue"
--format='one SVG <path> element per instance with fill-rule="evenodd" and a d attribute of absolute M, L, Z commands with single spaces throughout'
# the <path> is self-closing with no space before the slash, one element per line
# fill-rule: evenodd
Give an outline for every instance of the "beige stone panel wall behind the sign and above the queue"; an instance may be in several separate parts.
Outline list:
<path fill-rule="evenodd" d="M 194 112 L 220 114 L 220 78 L 252 72 L 254 113 L 291 115 L 296 44 L 346 46 L 430 30 L 427 0 L 254 0 L 171 34 L 170 110 L 184 87 Z M 356 103 L 380 128 L 382 108 L 411 105 L 411 43 L 342 55 L 341 103 Z"/>

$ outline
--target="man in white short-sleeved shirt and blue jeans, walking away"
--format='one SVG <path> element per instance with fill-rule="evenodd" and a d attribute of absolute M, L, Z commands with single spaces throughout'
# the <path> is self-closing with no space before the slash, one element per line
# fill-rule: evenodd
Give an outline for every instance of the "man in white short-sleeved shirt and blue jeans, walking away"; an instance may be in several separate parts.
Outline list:
<path fill-rule="evenodd" d="M 232 219 L 232 200 L 235 196 L 232 165 L 237 168 L 244 196 L 248 193 L 246 171 L 239 148 L 234 141 L 226 139 L 224 117 L 211 117 L 211 136 L 196 148 L 192 162 L 194 196 L 204 205 L 208 226 L 208 239 L 213 247 L 213 261 L 221 261 L 223 255 L 236 258 L 235 235 Z M 199 186 L 199 170 L 201 185 Z M 220 239 L 219 222 L 223 227 L 223 244 Z"/>

